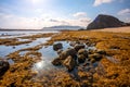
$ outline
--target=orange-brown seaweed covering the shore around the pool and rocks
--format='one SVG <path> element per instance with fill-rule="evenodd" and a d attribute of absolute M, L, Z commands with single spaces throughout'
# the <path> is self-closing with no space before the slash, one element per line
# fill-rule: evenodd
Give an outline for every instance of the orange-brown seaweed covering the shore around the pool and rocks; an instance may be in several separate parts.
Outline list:
<path fill-rule="evenodd" d="M 46 35 L 47 37 L 50 35 Z M 42 37 L 42 35 L 35 36 L 34 38 Z M 31 37 L 25 37 L 31 38 Z M 101 65 L 95 69 L 96 73 L 92 75 L 92 84 L 88 82 L 87 78 L 90 78 L 90 73 L 80 71 L 78 75 L 81 78 L 81 82 L 75 80 L 69 76 L 69 73 L 65 71 L 53 70 L 47 72 L 47 76 L 43 78 L 32 79 L 37 77 L 38 72 L 31 71 L 31 65 L 38 61 L 41 57 L 40 52 L 37 52 L 42 46 L 28 50 L 29 53 L 21 57 L 18 52 L 14 52 L 9 55 L 10 59 L 14 60 L 15 63 L 11 65 L 9 71 L 0 79 L 1 86 L 129 86 L 130 79 L 130 34 L 129 33 L 109 33 L 109 32 L 90 32 L 90 30 L 76 30 L 76 32 L 61 32 L 43 44 L 43 46 L 53 45 L 55 41 L 80 41 L 89 42 L 88 45 L 94 44 L 98 49 L 106 51 L 106 54 L 117 59 L 119 63 L 114 63 L 107 58 L 103 57 L 100 63 L 104 69 L 101 69 Z M 29 54 L 36 55 L 35 59 L 28 57 Z M 103 72 L 102 72 L 103 71 Z M 51 78 L 51 80 L 50 80 Z M 91 79 L 91 78 L 90 78 Z M 35 83 L 34 83 L 35 82 Z"/>

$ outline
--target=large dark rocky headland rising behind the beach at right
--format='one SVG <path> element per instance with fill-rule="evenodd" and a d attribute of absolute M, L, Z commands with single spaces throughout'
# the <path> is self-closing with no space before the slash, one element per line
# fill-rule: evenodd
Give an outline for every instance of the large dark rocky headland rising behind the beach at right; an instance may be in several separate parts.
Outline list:
<path fill-rule="evenodd" d="M 87 29 L 120 27 L 123 26 L 123 22 L 120 22 L 118 18 L 112 15 L 100 14 L 92 23 L 88 25 Z"/>

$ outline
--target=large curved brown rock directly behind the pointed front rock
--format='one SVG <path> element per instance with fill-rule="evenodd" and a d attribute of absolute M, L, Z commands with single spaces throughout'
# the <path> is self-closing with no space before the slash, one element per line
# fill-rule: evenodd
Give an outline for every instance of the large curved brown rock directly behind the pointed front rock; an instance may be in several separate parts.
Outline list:
<path fill-rule="evenodd" d="M 60 59 L 65 60 L 68 55 L 72 55 L 73 58 L 76 59 L 76 58 L 77 58 L 77 52 L 76 52 L 76 50 L 73 49 L 73 48 L 69 48 L 69 49 L 63 51 L 63 52 L 60 54 Z"/>

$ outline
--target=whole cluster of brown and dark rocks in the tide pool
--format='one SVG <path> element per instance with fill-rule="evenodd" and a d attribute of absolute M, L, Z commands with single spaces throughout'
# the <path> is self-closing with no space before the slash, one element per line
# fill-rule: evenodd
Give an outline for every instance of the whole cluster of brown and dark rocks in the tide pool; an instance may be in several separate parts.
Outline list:
<path fill-rule="evenodd" d="M 87 59 L 94 63 L 100 61 L 102 55 L 106 53 L 104 50 L 87 50 L 84 44 L 73 44 L 72 46 L 67 50 L 61 50 L 63 48 L 62 44 L 53 45 L 53 49 L 58 57 L 52 61 L 52 64 L 56 66 L 64 65 L 68 71 L 73 71 L 78 64 L 84 63 Z"/>

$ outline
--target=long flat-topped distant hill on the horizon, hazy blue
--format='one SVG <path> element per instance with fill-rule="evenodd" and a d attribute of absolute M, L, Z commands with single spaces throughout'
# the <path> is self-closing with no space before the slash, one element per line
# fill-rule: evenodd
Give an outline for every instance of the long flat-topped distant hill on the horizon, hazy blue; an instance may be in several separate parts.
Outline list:
<path fill-rule="evenodd" d="M 43 27 L 43 30 L 77 30 L 82 28 L 81 26 L 69 26 L 69 25 L 60 25 L 60 26 L 51 26 Z"/>

